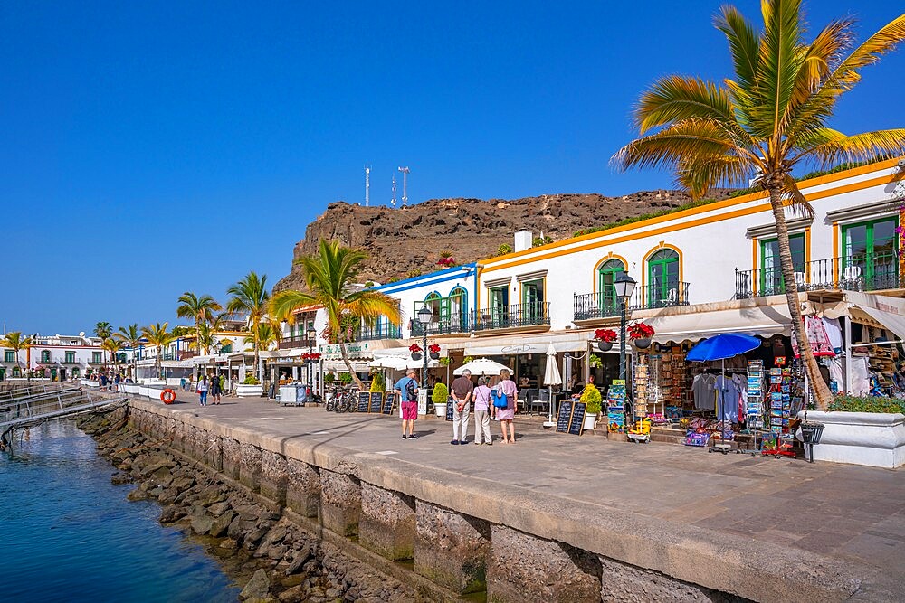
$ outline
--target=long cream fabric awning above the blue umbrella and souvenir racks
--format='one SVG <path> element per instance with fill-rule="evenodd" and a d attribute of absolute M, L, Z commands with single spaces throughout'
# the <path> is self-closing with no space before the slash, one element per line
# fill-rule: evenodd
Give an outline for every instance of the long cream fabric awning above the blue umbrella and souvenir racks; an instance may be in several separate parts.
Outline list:
<path fill-rule="evenodd" d="M 652 339 L 659 344 L 698 341 L 720 333 L 770 337 L 788 335 L 792 331 L 788 306 L 780 305 L 653 316 L 646 318 L 644 323 L 653 326 L 655 334 Z"/>

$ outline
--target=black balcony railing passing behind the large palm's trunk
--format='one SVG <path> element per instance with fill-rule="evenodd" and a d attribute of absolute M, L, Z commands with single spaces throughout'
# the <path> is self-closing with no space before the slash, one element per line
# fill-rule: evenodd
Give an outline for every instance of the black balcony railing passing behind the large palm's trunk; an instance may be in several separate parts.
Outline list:
<path fill-rule="evenodd" d="M 867 254 L 859 258 L 815 259 L 795 267 L 799 291 L 820 289 L 879 291 L 900 287 L 899 255 Z M 736 270 L 736 297 L 776 296 L 786 293 L 782 269 Z"/>

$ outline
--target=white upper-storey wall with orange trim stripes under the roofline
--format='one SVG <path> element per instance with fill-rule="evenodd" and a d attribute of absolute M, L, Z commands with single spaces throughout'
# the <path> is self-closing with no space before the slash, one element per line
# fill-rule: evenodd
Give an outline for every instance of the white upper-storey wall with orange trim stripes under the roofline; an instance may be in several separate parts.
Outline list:
<path fill-rule="evenodd" d="M 877 203 L 879 208 L 883 205 L 881 202 L 890 202 L 893 198 L 895 184 L 890 181 L 896 172 L 894 162 L 874 166 L 866 174 L 857 172 L 833 174 L 801 184 L 802 192 L 811 200 L 815 212 L 807 258 L 834 257 L 834 229 L 826 218 L 827 212 L 866 203 Z M 824 180 L 830 182 L 824 183 Z M 879 182 L 871 184 L 873 180 Z M 865 184 L 870 185 L 860 190 L 845 190 L 846 187 L 858 189 Z M 823 196 L 829 191 L 834 193 Z M 628 273 L 643 286 L 647 284 L 645 257 L 664 245 L 680 251 L 680 279 L 690 283 L 691 304 L 729 300 L 735 296 L 735 269 L 758 268 L 753 257 L 755 242 L 746 236 L 746 231 L 773 221 L 769 203 L 763 198 L 752 198 L 754 196 L 746 195 L 522 253 L 482 260 L 479 262 L 478 304 L 487 306 L 486 284 L 500 278 L 511 279 L 510 303 L 519 303 L 518 276 L 546 269 L 546 301 L 551 303 L 551 327 L 563 329 L 574 317 L 574 295 L 595 291 L 598 263 L 611 253 L 624 259 Z M 837 241 L 837 244 L 841 254 L 841 243 Z"/>

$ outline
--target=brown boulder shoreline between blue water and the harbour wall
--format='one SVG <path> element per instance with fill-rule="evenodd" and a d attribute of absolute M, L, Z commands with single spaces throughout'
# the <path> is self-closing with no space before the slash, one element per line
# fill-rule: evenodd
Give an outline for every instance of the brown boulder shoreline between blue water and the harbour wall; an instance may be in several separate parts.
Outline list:
<path fill-rule="evenodd" d="M 242 486 L 198 466 L 127 424 L 129 408 L 77 421 L 118 471 L 114 484 L 136 484 L 130 501 L 156 500 L 160 523 L 205 544 L 224 571 L 244 585 L 243 601 L 411 601 L 415 589 L 342 553 L 274 513 Z"/>

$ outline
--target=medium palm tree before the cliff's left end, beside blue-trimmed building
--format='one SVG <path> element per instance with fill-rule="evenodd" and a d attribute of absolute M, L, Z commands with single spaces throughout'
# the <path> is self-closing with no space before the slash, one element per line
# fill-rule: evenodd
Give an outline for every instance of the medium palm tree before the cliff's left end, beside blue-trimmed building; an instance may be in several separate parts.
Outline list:
<path fill-rule="evenodd" d="M 361 262 L 367 259 L 363 250 L 343 247 L 339 241 L 321 240 L 318 253 L 297 259 L 310 293 L 281 291 L 271 300 L 271 315 L 292 324 L 294 312 L 304 306 L 323 306 L 327 314 L 325 336 L 331 344 L 339 344 L 343 363 L 359 389 L 365 384 L 358 379 L 348 360 L 346 344 L 352 341 L 352 326 L 361 321 L 374 323 L 380 316 L 399 324 L 399 303 L 393 297 L 372 290 L 352 287 Z"/>

